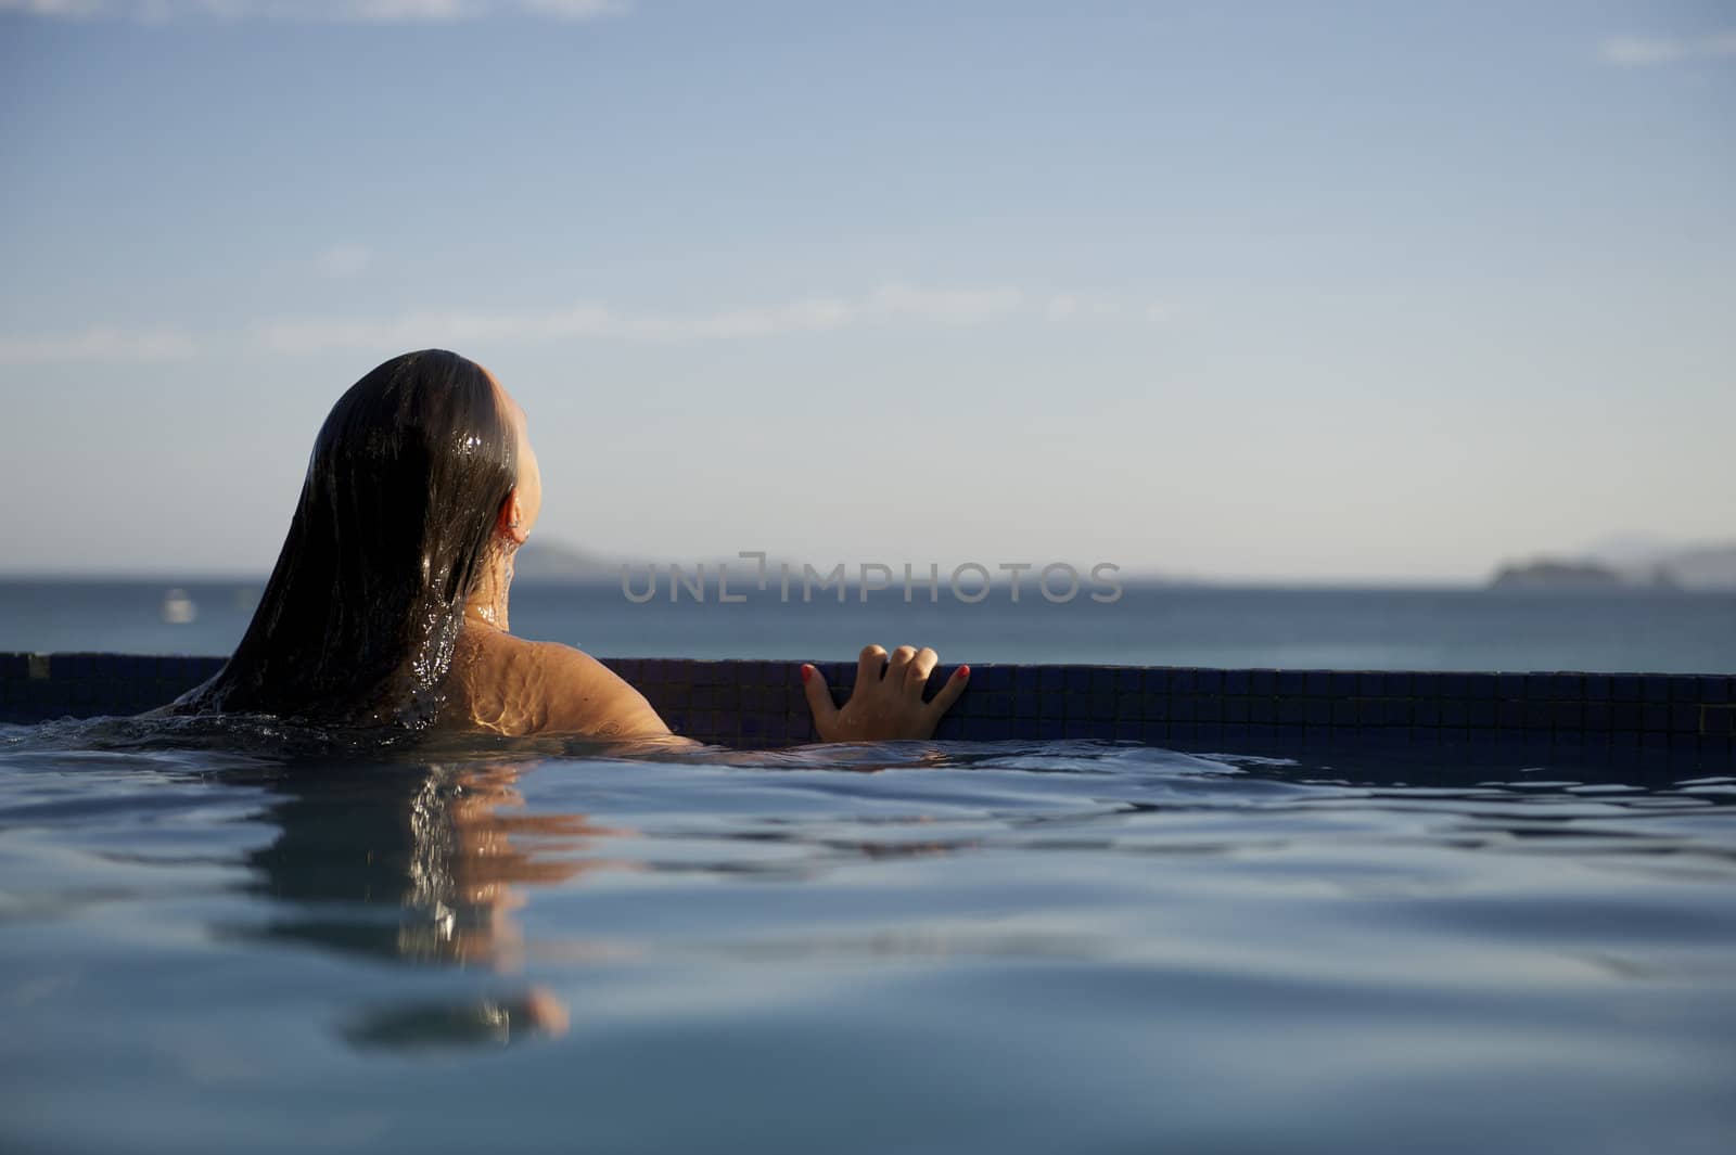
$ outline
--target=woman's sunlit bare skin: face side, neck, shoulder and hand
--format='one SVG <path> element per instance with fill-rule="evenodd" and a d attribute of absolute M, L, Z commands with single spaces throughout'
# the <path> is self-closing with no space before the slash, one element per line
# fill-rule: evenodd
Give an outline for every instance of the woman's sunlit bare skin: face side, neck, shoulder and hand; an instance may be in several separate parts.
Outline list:
<path fill-rule="evenodd" d="M 529 539 L 542 513 L 542 468 L 531 449 L 524 409 L 490 378 L 519 444 L 519 475 L 495 519 L 488 569 L 464 607 L 464 630 L 448 678 L 450 708 L 469 725 L 495 734 L 583 734 L 592 737 L 674 739 L 639 690 L 602 662 L 557 642 L 528 642 L 509 633 L 507 598 L 512 555 Z M 922 690 L 939 656 L 901 645 L 887 654 L 863 649 L 856 688 L 840 709 L 825 676 L 802 666 L 814 730 L 826 742 L 925 739 L 963 692 L 967 666 L 946 680 L 932 702 Z"/>

